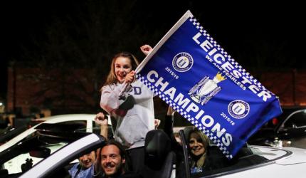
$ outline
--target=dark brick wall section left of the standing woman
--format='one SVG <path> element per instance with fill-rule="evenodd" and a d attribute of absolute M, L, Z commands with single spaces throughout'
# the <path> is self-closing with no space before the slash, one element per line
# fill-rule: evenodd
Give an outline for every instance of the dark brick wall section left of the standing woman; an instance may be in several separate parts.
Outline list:
<path fill-rule="evenodd" d="M 29 115 L 31 108 L 91 112 L 100 95 L 93 75 L 90 69 L 9 68 L 7 109 L 15 107 L 23 115 Z"/>

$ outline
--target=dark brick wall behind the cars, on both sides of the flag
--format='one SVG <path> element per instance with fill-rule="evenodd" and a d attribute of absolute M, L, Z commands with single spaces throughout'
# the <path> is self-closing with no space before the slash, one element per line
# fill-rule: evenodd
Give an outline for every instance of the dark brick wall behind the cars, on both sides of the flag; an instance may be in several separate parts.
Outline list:
<path fill-rule="evenodd" d="M 54 114 L 95 112 L 100 108 L 100 86 L 95 87 L 94 75 L 90 69 L 9 68 L 7 109 L 15 106 L 23 115 L 31 108 L 48 108 Z M 261 73 L 256 78 L 280 97 L 281 105 L 306 106 L 306 71 Z M 157 115 L 164 115 L 167 105 L 156 101 Z"/>

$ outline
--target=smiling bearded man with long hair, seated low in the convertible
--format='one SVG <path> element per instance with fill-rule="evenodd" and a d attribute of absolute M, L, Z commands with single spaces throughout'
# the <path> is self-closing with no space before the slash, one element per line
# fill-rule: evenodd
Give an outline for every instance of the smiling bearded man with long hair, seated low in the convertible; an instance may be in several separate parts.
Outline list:
<path fill-rule="evenodd" d="M 105 145 L 97 150 L 95 177 L 141 178 L 139 174 L 128 170 L 128 162 L 125 147 L 115 140 L 107 140 Z"/>

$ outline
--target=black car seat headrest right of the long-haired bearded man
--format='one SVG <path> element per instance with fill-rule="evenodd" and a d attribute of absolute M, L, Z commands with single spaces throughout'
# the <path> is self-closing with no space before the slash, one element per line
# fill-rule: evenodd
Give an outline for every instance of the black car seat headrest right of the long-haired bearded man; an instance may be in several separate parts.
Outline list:
<path fill-rule="evenodd" d="M 162 165 L 167 154 L 171 151 L 170 139 L 162 130 L 147 132 L 144 147 L 145 164 L 156 168 Z"/>

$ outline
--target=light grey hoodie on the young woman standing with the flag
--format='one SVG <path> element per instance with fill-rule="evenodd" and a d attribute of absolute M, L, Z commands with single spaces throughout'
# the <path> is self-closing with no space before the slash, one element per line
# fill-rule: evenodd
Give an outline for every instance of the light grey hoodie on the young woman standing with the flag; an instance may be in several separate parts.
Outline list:
<path fill-rule="evenodd" d="M 130 85 L 116 83 L 102 88 L 100 106 L 117 120 L 115 140 L 125 147 L 144 146 L 147 132 L 154 129 L 153 96 L 139 80 Z"/>

